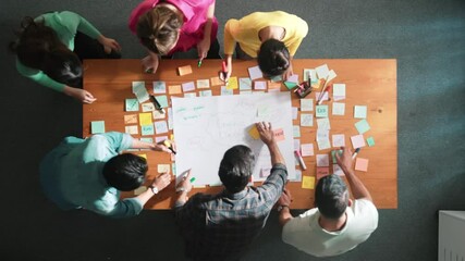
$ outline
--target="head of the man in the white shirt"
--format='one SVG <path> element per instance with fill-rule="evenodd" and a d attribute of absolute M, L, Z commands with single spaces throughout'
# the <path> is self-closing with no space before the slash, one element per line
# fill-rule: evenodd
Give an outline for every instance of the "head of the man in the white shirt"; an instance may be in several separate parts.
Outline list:
<path fill-rule="evenodd" d="M 344 181 L 334 174 L 321 177 L 315 190 L 315 203 L 325 217 L 341 217 L 348 204 L 348 190 Z"/>

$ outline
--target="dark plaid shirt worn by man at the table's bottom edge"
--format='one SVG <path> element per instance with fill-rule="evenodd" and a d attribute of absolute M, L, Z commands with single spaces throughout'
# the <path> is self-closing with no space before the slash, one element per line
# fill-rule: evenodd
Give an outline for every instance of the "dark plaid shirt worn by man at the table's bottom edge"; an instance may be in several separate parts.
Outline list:
<path fill-rule="evenodd" d="M 259 187 L 236 194 L 194 195 L 175 206 L 176 223 L 194 260 L 225 260 L 243 253 L 265 227 L 287 179 L 285 165 L 276 164 Z"/>

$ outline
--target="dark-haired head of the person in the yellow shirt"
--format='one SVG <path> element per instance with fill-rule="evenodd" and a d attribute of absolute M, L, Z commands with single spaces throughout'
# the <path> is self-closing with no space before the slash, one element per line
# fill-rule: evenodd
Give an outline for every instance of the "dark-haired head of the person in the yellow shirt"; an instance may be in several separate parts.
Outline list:
<path fill-rule="evenodd" d="M 266 77 L 282 75 L 290 65 L 291 55 L 284 42 L 277 39 L 264 41 L 258 51 L 258 66 Z"/>

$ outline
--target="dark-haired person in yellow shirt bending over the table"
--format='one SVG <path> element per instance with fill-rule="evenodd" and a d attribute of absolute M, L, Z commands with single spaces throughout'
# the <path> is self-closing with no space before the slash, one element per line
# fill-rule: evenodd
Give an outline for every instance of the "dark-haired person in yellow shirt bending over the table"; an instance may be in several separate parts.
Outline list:
<path fill-rule="evenodd" d="M 304 20 L 282 11 L 255 12 L 241 20 L 229 20 L 224 26 L 225 79 L 232 73 L 234 49 L 237 59 L 257 58 L 265 77 L 287 78 L 293 74 L 292 58 L 307 33 Z"/>

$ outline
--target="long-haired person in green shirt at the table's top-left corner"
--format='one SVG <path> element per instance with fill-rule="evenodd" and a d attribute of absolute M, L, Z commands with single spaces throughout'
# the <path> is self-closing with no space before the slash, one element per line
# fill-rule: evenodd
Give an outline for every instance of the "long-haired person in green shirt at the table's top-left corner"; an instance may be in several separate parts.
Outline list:
<path fill-rule="evenodd" d="M 16 54 L 16 69 L 23 75 L 85 103 L 96 98 L 82 89 L 82 60 L 120 58 L 121 47 L 105 37 L 81 15 L 50 12 L 25 17 L 10 44 Z"/>

